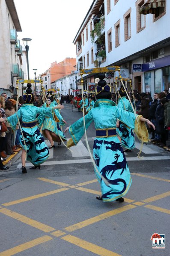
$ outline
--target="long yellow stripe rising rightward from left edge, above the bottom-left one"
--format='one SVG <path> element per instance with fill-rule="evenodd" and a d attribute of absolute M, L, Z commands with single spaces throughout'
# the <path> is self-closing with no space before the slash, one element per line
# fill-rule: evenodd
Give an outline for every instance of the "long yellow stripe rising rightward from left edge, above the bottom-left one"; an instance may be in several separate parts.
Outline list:
<path fill-rule="evenodd" d="M 14 205 L 14 204 L 20 204 L 20 203 L 23 203 L 23 202 L 27 202 L 27 201 L 30 201 L 30 200 L 33 200 L 33 199 L 37 199 L 37 198 L 40 198 L 40 197 L 46 197 L 48 195 L 56 194 L 56 193 L 59 193 L 59 192 L 62 192 L 62 191 L 66 191 L 66 190 L 69 190 L 69 188 L 59 188 L 59 189 L 52 190 L 52 191 L 49 191 L 49 192 L 46 192 L 46 193 L 36 194 L 34 196 L 31 196 L 31 197 L 21 198 L 21 199 L 18 199 L 18 200 L 15 200 L 15 201 L 11 201 L 11 202 L 8 202 L 8 203 L 2 204 L 2 205 L 3 206 L 10 206 L 10 205 Z"/>

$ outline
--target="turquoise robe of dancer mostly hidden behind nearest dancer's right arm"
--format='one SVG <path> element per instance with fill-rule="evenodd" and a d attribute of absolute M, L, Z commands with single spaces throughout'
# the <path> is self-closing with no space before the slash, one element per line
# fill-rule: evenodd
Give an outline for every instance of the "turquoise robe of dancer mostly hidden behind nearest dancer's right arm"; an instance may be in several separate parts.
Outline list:
<path fill-rule="evenodd" d="M 126 99 L 126 97 L 119 98 L 117 107 L 134 113 L 129 100 Z M 124 148 L 133 149 L 135 147 L 133 129 L 120 122 L 119 127 L 116 128 L 116 131 L 122 140 L 121 143 Z"/>

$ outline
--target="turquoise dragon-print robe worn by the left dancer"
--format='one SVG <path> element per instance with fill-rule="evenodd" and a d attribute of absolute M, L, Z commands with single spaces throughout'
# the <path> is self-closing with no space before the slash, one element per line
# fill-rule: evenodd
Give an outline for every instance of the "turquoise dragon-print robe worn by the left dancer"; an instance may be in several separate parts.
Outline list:
<path fill-rule="evenodd" d="M 22 134 L 20 134 L 20 143 L 24 149 L 27 149 L 27 160 L 33 163 L 33 165 L 44 163 L 49 156 L 48 147 L 45 144 L 42 134 L 39 132 L 39 129 L 36 126 L 37 114 L 50 116 L 51 110 L 50 108 L 38 108 L 33 104 L 24 104 L 17 113 L 6 119 L 6 121 L 10 123 L 12 130 L 15 130 L 18 123 L 18 118 L 22 120 L 22 133 L 24 135 L 24 139 Z"/>

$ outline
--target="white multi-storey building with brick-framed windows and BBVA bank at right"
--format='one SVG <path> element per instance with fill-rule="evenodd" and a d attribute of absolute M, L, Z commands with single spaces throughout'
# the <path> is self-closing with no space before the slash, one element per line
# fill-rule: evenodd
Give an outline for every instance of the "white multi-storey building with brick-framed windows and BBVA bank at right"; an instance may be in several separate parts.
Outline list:
<path fill-rule="evenodd" d="M 169 23 L 168 0 L 93 0 L 73 41 L 77 70 L 98 66 L 102 56 L 101 67 L 119 65 L 139 92 L 170 90 Z M 84 89 L 98 82 L 84 80 Z"/>

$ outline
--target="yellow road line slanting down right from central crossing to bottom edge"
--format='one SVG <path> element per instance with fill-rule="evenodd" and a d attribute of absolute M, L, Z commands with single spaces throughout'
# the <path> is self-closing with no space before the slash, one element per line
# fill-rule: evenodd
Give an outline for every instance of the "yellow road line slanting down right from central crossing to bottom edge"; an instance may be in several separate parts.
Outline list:
<path fill-rule="evenodd" d="M 72 235 L 66 235 L 64 237 L 61 237 L 61 239 L 71 243 L 71 244 L 75 244 L 78 247 L 81 247 L 85 250 L 88 250 L 89 252 L 95 253 L 95 255 L 101 255 L 101 256 L 119 256 L 120 254 L 117 253 L 113 253 L 110 250 L 107 250 L 103 247 L 100 247 L 98 245 L 89 243 L 87 241 L 84 241 L 78 237 L 72 236 Z M 83 255 L 83 252 L 82 252 Z"/>

